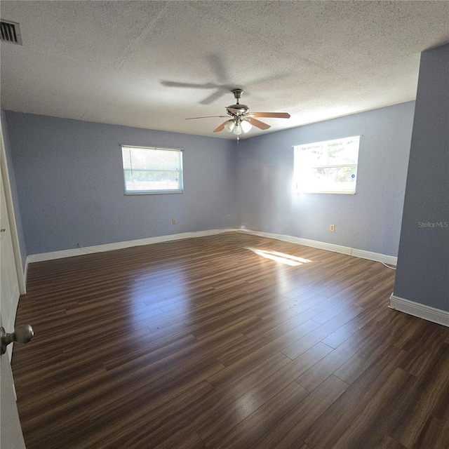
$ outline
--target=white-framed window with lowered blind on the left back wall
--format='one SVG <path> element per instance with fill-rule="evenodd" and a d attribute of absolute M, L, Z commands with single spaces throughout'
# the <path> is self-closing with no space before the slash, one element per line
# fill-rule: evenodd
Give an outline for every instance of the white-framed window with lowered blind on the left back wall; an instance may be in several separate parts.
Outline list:
<path fill-rule="evenodd" d="M 121 146 L 126 194 L 181 193 L 182 150 Z"/>

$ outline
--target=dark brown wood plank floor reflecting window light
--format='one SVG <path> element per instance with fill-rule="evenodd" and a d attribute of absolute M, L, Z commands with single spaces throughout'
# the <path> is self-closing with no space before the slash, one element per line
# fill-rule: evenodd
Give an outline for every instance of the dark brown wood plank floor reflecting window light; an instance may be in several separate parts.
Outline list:
<path fill-rule="evenodd" d="M 449 328 L 393 282 L 240 233 L 31 264 L 27 448 L 448 449 Z"/>

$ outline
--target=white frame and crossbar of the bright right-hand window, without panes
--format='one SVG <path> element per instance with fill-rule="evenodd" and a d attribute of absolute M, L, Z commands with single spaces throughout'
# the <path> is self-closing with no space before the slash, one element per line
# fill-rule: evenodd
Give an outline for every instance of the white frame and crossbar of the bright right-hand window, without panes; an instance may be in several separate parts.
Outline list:
<path fill-rule="evenodd" d="M 361 145 L 361 138 L 362 135 L 351 135 L 343 138 L 337 138 L 337 139 L 329 139 L 329 140 L 321 140 L 319 142 L 310 142 L 300 145 L 293 145 L 293 193 L 295 194 L 349 194 L 349 195 L 355 195 L 356 194 L 356 187 L 357 187 L 357 176 L 358 176 L 358 154 L 360 152 L 360 145 Z M 316 166 L 307 166 L 306 168 L 300 168 L 300 158 L 297 156 L 298 152 L 301 151 L 301 147 L 311 147 L 313 145 L 323 145 L 323 144 L 329 144 L 332 142 L 342 142 L 344 140 L 351 140 L 351 139 L 358 139 L 358 149 L 357 149 L 357 159 L 355 163 L 340 163 L 340 164 L 323 164 L 323 165 L 316 165 Z M 330 151 L 330 148 L 328 147 L 328 152 Z M 304 171 L 307 170 L 316 170 L 319 168 L 355 168 L 355 183 L 354 183 L 354 189 L 303 189 L 300 186 L 300 174 L 301 172 L 304 173 Z M 353 176 L 354 176 L 353 174 Z"/>

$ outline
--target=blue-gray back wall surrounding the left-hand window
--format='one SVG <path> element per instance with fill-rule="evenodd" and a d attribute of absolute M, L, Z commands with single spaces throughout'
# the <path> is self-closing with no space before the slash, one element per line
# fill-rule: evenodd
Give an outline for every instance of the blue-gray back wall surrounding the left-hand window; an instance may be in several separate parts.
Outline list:
<path fill-rule="evenodd" d="M 10 111 L 6 125 L 28 254 L 237 225 L 234 141 Z M 185 149 L 185 192 L 125 196 L 121 144 Z"/>

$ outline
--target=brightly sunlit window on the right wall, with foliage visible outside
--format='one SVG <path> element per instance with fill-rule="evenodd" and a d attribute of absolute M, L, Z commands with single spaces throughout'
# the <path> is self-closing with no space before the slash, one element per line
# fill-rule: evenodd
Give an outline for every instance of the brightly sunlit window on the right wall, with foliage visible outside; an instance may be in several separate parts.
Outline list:
<path fill-rule="evenodd" d="M 355 194 L 360 136 L 294 148 L 293 192 Z"/>

